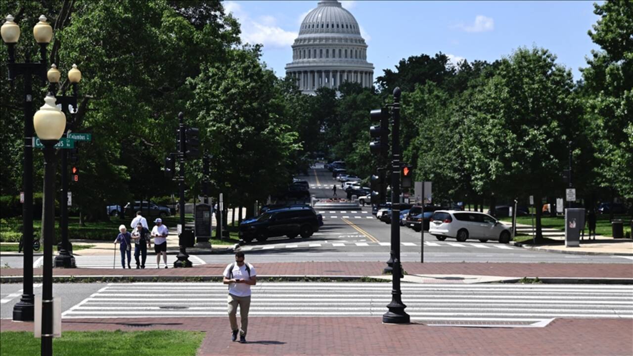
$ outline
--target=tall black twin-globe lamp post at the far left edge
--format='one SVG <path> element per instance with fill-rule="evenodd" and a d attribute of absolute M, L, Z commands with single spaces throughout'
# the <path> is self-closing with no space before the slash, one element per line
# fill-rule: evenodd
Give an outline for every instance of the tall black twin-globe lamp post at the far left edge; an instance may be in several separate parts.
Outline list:
<path fill-rule="evenodd" d="M 22 239 L 25 246 L 23 255 L 23 289 L 20 302 L 13 307 L 14 321 L 32 321 L 34 317 L 33 294 L 33 92 L 32 77 L 35 75 L 46 80 L 46 47 L 53 38 L 53 28 L 46 22 L 44 15 L 33 28 L 35 41 L 40 46 L 39 63 L 31 63 L 27 54 L 25 63 L 15 63 L 15 45 L 20 39 L 20 26 L 13 22 L 13 16 L 6 16 L 6 22 L 0 28 L 2 39 L 8 46 L 8 77 L 11 82 L 22 75 L 24 77 L 24 166 L 22 184 L 24 203 L 22 205 Z"/>

